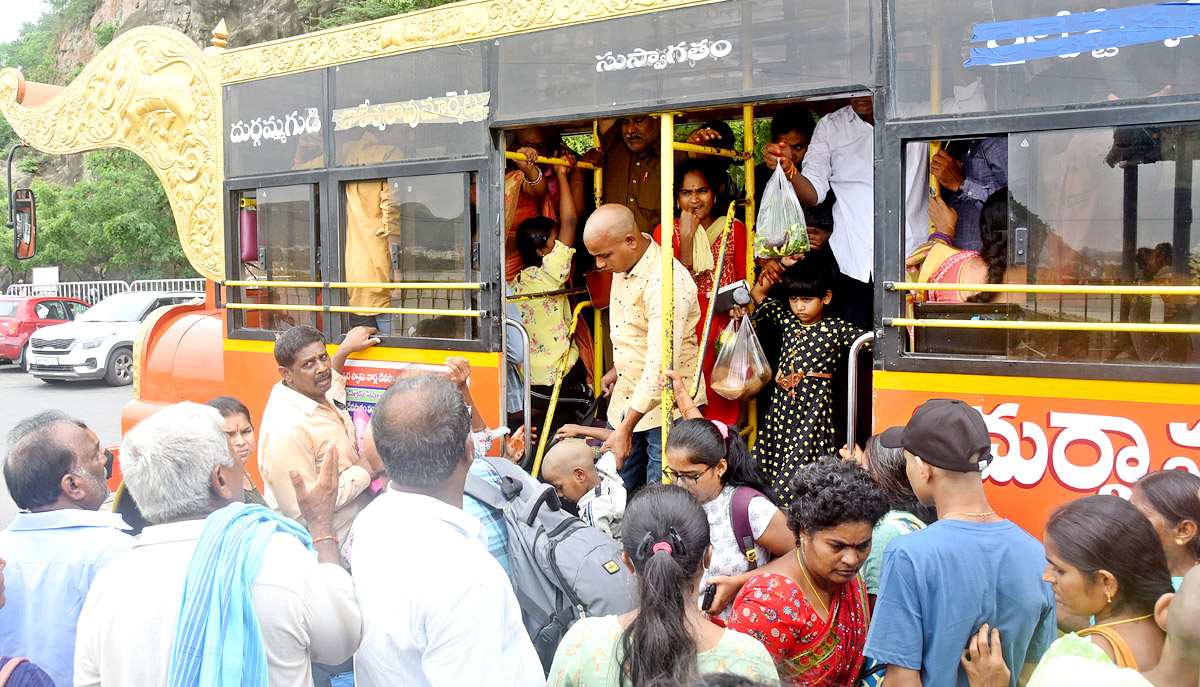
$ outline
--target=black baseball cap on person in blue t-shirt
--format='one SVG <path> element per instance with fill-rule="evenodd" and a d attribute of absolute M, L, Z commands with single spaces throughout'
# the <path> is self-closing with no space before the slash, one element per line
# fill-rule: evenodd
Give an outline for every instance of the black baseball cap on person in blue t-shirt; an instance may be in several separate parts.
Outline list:
<path fill-rule="evenodd" d="M 904 448 L 925 462 L 954 472 L 979 472 L 988 460 L 972 460 L 991 448 L 988 425 L 979 411 L 955 399 L 925 401 L 912 413 L 907 425 L 880 435 L 887 448 Z"/>

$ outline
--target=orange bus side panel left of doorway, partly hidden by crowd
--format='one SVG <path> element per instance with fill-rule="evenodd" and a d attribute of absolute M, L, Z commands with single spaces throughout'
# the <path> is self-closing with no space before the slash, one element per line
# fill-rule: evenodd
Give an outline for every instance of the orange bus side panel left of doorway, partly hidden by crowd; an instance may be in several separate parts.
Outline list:
<path fill-rule="evenodd" d="M 271 341 L 227 339 L 224 342 L 226 394 L 236 396 L 246 404 L 253 416 L 251 419 L 256 428 L 262 423 L 263 410 L 271 395 L 271 388 L 280 381 L 274 346 L 275 344 Z M 336 350 L 336 346 L 330 346 L 330 354 Z M 359 407 L 370 412 L 374 407 L 374 401 L 397 375 L 424 371 L 445 372 L 443 363 L 449 356 L 463 356 L 470 362 L 472 398 L 474 398 L 488 426 L 494 428 L 504 424 L 500 419 L 499 405 L 499 354 L 496 353 L 371 348 L 346 362 L 343 374 L 347 380 L 348 408 L 352 413 Z M 254 484 L 263 489 L 257 452 L 246 464 L 246 470 Z"/>

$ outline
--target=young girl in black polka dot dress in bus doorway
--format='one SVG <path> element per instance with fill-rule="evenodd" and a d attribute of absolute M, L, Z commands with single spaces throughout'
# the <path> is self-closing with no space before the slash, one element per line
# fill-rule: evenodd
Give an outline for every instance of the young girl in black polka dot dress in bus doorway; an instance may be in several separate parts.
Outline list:
<path fill-rule="evenodd" d="M 770 413 L 760 428 L 755 455 L 776 502 L 792 502 L 796 470 L 836 453 L 833 428 L 833 371 L 863 330 L 824 317 L 833 299 L 834 267 L 824 251 L 812 251 L 784 273 L 787 303 L 767 297 L 780 280 L 766 273 L 750 291 L 755 325 L 780 330 L 779 365 Z"/>

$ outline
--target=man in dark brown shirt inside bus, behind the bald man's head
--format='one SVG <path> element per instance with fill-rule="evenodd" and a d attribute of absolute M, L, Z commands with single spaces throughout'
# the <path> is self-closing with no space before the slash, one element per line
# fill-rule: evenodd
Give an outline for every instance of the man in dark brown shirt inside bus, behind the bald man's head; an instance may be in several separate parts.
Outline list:
<path fill-rule="evenodd" d="M 630 117 L 600 123 L 600 148 L 583 162 L 604 165 L 604 202 L 625 205 L 634 213 L 640 232 L 650 233 L 659 223 L 659 139 L 656 117 Z"/>

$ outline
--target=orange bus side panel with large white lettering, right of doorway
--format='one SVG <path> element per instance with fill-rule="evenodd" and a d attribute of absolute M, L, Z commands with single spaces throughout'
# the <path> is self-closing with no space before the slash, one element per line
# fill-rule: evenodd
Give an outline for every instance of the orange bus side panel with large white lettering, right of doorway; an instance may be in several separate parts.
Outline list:
<path fill-rule="evenodd" d="M 997 512 L 1040 537 L 1055 507 L 1093 494 L 1128 497 L 1162 468 L 1200 473 L 1200 418 L 1190 384 L 875 374 L 876 431 L 922 402 L 960 399 L 984 416 L 994 460 L 984 472 Z"/>

